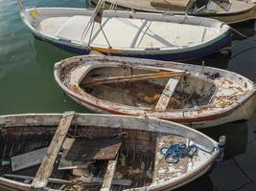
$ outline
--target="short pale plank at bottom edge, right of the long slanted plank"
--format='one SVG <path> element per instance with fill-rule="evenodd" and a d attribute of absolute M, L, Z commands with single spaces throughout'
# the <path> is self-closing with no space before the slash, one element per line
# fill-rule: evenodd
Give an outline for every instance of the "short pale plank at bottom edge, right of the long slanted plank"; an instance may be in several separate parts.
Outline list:
<path fill-rule="evenodd" d="M 111 184 L 114 179 L 114 174 L 116 171 L 116 164 L 118 160 L 118 155 L 116 159 L 111 159 L 108 161 L 107 168 L 105 171 L 105 179 L 101 191 L 109 191 L 111 189 Z"/>

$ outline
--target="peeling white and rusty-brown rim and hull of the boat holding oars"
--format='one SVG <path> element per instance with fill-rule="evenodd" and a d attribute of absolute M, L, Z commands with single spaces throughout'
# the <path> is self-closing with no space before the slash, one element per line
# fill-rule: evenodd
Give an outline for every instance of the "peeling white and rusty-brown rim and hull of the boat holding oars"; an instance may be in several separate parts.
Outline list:
<path fill-rule="evenodd" d="M 81 61 L 80 61 L 81 59 Z M 86 64 L 88 62 L 94 62 L 95 64 L 91 65 Z M 78 81 L 74 82 L 74 86 L 77 86 L 80 94 L 74 92 L 68 88 L 72 83 L 67 82 L 64 84 L 61 80 L 65 80 L 65 74 L 60 74 L 60 68 L 64 65 L 72 67 L 72 63 L 77 65 L 74 67 L 83 65 L 88 67 L 88 70 L 85 69 L 84 72 L 78 74 Z M 96 64 L 97 63 L 97 64 Z M 86 74 L 88 74 L 92 69 L 97 70 L 98 66 L 107 67 L 114 66 L 113 63 L 118 63 L 121 67 L 123 64 L 126 66 L 137 66 L 137 67 L 159 67 L 162 69 L 177 69 L 177 70 L 186 70 L 191 73 L 192 77 L 198 78 L 201 80 L 201 83 L 208 81 L 209 76 L 212 74 L 219 74 L 220 76 L 216 77 L 214 80 L 210 80 L 210 83 L 216 87 L 215 96 L 212 96 L 211 102 L 208 105 L 201 106 L 201 109 L 189 109 L 189 110 L 174 110 L 166 112 L 156 112 L 151 109 L 143 110 L 139 107 L 130 107 L 125 104 L 115 104 L 114 97 L 112 100 L 106 101 L 97 96 L 91 96 L 83 92 L 80 88 L 80 80 Z M 201 72 L 204 71 L 204 72 Z M 110 73 L 110 72 L 109 72 Z M 63 76 L 63 79 L 59 79 L 58 76 Z M 66 75 L 67 78 L 69 74 Z M 55 67 L 55 77 L 58 81 L 58 85 L 65 91 L 65 93 L 71 98 L 75 99 L 81 105 L 101 113 L 110 113 L 110 114 L 119 114 L 119 115 L 128 115 L 128 116 L 149 116 L 149 117 L 159 117 L 162 119 L 175 121 L 189 125 L 193 128 L 206 128 L 216 125 L 220 125 L 227 122 L 232 122 L 236 120 L 248 119 L 252 116 L 255 107 L 256 107 L 256 96 L 255 96 L 255 87 L 254 83 L 245 78 L 240 74 L 231 73 L 221 69 L 215 69 L 210 67 L 201 67 L 188 64 L 181 64 L 175 62 L 159 62 L 155 60 L 144 60 L 136 58 L 110 58 L 110 57 L 93 57 L 93 56 L 79 56 L 66 59 L 62 62 L 59 62 Z M 198 82 L 199 84 L 200 82 Z M 203 87 L 203 86 L 202 86 Z M 227 98 L 231 97 L 231 98 Z"/>

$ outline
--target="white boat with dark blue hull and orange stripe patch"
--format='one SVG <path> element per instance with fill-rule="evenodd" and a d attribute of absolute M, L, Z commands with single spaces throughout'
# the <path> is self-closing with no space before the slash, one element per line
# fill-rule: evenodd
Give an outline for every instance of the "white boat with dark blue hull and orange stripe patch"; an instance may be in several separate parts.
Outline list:
<path fill-rule="evenodd" d="M 25 9 L 21 17 L 36 38 L 70 53 L 100 53 L 186 60 L 230 49 L 230 29 L 220 21 L 187 15 L 69 8 Z M 98 15 L 103 15 L 98 16 Z"/>

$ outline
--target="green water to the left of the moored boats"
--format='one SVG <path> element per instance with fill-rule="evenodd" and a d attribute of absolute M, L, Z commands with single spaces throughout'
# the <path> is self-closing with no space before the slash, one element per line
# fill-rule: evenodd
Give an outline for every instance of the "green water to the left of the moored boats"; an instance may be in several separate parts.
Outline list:
<path fill-rule="evenodd" d="M 35 40 L 23 25 L 16 1 L 0 1 L 0 115 L 86 109 L 63 95 L 54 63 L 72 56 Z M 26 7 L 85 7 L 84 1 L 24 1 Z"/>

